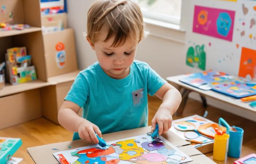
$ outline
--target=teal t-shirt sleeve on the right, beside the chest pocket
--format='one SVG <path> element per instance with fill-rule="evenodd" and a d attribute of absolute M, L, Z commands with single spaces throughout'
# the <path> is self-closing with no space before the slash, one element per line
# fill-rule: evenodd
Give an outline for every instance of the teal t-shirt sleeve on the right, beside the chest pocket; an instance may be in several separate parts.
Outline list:
<path fill-rule="evenodd" d="M 144 65 L 144 67 L 147 77 L 147 91 L 148 94 L 153 96 L 166 83 L 166 81 L 151 69 L 148 64 Z"/>

